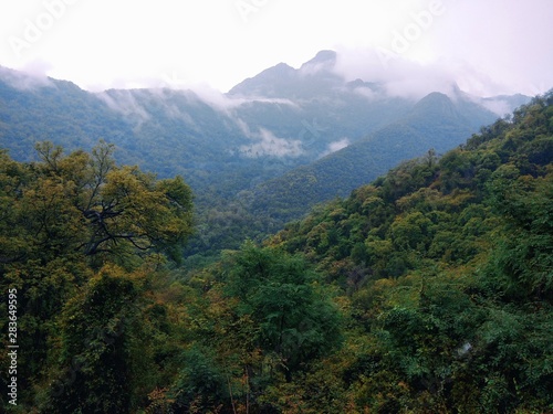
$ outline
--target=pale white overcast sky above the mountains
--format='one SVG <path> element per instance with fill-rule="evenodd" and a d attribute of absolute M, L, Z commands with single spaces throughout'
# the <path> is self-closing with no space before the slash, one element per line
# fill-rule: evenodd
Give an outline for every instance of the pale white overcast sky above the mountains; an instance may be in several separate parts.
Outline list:
<path fill-rule="evenodd" d="M 90 91 L 227 92 L 332 49 L 351 78 L 535 95 L 552 41 L 553 0 L 0 0 L 0 65 Z"/>

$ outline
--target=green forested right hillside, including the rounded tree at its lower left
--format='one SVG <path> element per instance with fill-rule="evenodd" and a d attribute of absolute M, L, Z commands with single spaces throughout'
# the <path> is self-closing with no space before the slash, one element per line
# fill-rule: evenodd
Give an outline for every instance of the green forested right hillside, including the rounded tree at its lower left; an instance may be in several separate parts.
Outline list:
<path fill-rule="evenodd" d="M 227 369 L 243 364 L 242 388 L 225 396 L 221 385 L 218 403 L 257 413 L 553 410 L 552 105 L 552 94 L 539 97 L 441 158 L 406 161 L 264 247 L 189 274 L 209 309 L 227 298 L 233 323 L 210 314 L 215 338 L 251 347 L 204 342 L 216 372 L 222 355 Z M 315 277 L 290 279 L 292 262 Z M 302 289 L 305 301 L 294 301 Z M 309 311 L 312 289 L 326 312 Z M 309 352 L 317 338 L 328 347 Z M 205 400 L 213 393 L 197 395 L 216 411 Z"/>

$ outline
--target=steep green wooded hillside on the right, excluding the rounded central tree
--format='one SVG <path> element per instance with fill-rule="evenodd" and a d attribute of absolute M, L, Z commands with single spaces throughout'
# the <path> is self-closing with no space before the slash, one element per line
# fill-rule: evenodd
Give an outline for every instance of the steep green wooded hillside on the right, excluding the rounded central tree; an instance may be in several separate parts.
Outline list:
<path fill-rule="evenodd" d="M 553 91 L 512 119 L 439 160 L 397 166 L 264 244 L 309 259 L 345 318 L 343 348 L 296 376 L 294 404 L 552 411 Z"/>

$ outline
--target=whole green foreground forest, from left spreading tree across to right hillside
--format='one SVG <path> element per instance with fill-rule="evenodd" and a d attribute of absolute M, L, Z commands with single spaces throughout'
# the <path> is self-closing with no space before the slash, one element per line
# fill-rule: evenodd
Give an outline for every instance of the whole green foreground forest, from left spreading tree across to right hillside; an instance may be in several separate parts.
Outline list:
<path fill-rule="evenodd" d="M 553 92 L 202 268 L 182 178 L 36 151 L 0 153 L 6 410 L 553 411 Z"/>

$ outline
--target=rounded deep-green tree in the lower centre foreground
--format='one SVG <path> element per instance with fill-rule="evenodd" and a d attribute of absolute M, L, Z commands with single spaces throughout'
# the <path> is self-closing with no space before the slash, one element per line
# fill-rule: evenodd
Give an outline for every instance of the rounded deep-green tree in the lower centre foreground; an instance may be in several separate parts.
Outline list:
<path fill-rule="evenodd" d="M 286 375 L 338 344 L 336 309 L 302 258 L 246 244 L 230 261 L 228 295 L 259 323 L 257 346 L 276 354 Z"/>

